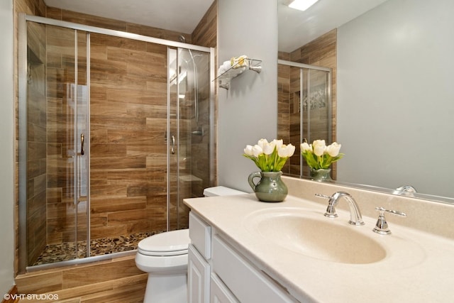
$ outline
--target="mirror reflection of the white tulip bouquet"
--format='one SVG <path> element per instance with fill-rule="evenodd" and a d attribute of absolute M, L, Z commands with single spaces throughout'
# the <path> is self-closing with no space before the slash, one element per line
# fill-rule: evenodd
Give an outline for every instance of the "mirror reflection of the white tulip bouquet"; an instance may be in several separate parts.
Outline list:
<path fill-rule="evenodd" d="M 339 153 L 341 144 L 336 142 L 326 146 L 324 140 L 316 140 L 312 144 L 301 143 L 301 155 L 307 165 L 314 170 L 327 169 L 331 163 L 341 159 L 344 154 Z"/>

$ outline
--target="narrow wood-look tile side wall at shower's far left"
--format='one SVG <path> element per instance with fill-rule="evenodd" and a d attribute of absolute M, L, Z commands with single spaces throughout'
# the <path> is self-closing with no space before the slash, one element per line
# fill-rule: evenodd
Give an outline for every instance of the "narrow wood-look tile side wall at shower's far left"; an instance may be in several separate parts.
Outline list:
<path fill-rule="evenodd" d="M 28 26 L 28 101 L 27 101 L 27 256 L 28 263 L 46 245 L 46 88 L 45 28 Z M 29 100 L 33 100 L 30 102 Z"/>

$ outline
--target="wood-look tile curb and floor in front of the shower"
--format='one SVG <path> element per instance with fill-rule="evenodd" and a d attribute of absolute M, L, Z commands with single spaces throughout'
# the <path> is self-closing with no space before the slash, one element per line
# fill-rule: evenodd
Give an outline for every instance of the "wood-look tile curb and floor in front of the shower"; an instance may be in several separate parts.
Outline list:
<path fill-rule="evenodd" d="M 134 256 L 41 270 L 16 277 L 20 294 L 48 294 L 49 299 L 20 302 L 143 302 L 148 274 L 135 266 Z M 46 297 L 43 297 L 46 298 Z"/>

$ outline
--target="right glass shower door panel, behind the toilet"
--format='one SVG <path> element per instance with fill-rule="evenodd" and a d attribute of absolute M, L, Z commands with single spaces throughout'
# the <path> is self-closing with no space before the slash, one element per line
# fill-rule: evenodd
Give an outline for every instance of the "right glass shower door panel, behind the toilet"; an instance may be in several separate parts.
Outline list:
<path fill-rule="evenodd" d="M 203 197 L 211 186 L 210 56 L 184 48 L 168 52 L 168 224 L 173 230 L 189 226 L 183 199 Z"/>

